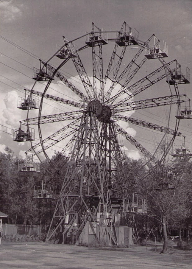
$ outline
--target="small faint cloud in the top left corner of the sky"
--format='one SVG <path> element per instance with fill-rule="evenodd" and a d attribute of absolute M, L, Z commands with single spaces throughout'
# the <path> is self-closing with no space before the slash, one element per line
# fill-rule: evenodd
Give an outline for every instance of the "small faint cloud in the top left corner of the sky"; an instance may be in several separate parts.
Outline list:
<path fill-rule="evenodd" d="M 1 1 L 0 2 L 0 17 L 3 22 L 10 22 L 20 17 L 21 10 L 11 3 L 12 1 Z"/>

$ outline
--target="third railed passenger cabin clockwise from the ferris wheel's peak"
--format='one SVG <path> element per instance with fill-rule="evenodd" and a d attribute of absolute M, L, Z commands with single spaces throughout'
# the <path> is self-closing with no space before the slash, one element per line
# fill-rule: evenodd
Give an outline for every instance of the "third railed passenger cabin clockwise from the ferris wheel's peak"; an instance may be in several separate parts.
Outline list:
<path fill-rule="evenodd" d="M 175 72 L 171 72 L 166 82 L 169 85 L 177 85 L 177 84 L 189 84 L 190 83 L 190 69 L 186 67 L 186 75 L 181 73 L 181 65 L 176 61 Z"/>

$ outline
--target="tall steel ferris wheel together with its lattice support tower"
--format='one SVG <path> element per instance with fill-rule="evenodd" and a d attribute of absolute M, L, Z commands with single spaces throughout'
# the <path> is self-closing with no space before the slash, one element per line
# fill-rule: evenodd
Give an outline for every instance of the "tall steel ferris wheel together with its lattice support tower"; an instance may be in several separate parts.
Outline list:
<path fill-rule="evenodd" d="M 34 68 L 34 85 L 25 89 L 32 105 L 21 121 L 28 132 L 33 127 L 39 134 L 39 143 L 25 139 L 31 141 L 27 153 L 51 163 L 54 150 L 69 159 L 48 238 L 66 219 L 71 225 L 78 221 L 77 215 L 70 219 L 75 210 L 83 215 L 93 206 L 98 212 L 101 204 L 107 210 L 108 192 L 120 184 L 116 177 L 125 148 L 139 151 L 154 165 L 163 160 L 181 136 L 174 104 L 180 106 L 186 96 L 178 85 L 190 83 L 189 69 L 183 75 L 176 60 L 165 61 L 165 42 L 160 47 L 155 35 L 141 41 L 126 22 L 119 31 L 93 23 L 84 36 L 63 41 L 47 62 L 40 60 L 40 68 Z M 167 146 L 160 153 L 163 144 Z M 95 197 L 91 202 L 90 196 Z"/>

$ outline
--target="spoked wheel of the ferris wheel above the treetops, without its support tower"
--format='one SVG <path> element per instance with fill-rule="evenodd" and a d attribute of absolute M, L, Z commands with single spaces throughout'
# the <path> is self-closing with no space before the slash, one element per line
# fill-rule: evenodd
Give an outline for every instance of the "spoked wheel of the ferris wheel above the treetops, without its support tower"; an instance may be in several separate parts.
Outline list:
<path fill-rule="evenodd" d="M 109 35 L 113 36 L 109 38 Z M 176 119 L 175 126 L 172 124 L 173 128 L 170 128 L 167 118 L 173 104 L 186 102 L 185 95 L 179 94 L 178 84 L 189 83 L 189 69 L 186 77 L 181 75 L 181 66 L 176 60 L 165 62 L 164 58 L 168 57 L 168 49 L 164 42 L 160 48 L 160 41 L 155 35 L 146 41 L 139 40 L 138 31 L 134 29 L 132 34 L 126 22 L 123 23 L 120 31 L 110 32 L 101 30 L 93 23 L 92 31 L 85 36 L 76 38 L 74 42 L 64 37 L 63 40 L 64 45 L 59 47 L 50 60 L 47 62 L 40 60 L 40 68 L 34 68 L 33 78 L 36 82 L 32 89 L 27 91 L 31 102 L 36 100 L 34 98 L 37 96 L 41 98 L 39 115 L 31 116 L 34 108 L 38 107 L 27 106 L 29 109 L 27 119 L 21 121 L 21 124 L 27 123 L 30 128 L 38 125 L 40 142 L 32 145 L 27 153 L 35 151 L 39 155 L 43 152 L 46 158 L 50 158 L 47 152 L 54 146 L 58 146 L 54 148 L 55 151 L 61 151 L 63 154 L 69 152 L 74 140 L 69 137 L 75 137 L 75 133 L 78 132 L 78 122 L 84 111 L 94 111 L 98 128 L 101 129 L 100 134 L 106 124 L 113 122 L 114 134 L 121 134 L 127 147 L 130 143 L 131 148 L 139 150 L 148 160 L 154 163 L 160 161 L 162 156 L 157 159 L 156 149 L 152 144 L 156 143 L 157 148 L 157 144 L 159 145 L 165 133 L 170 140 L 173 140 L 176 135 L 181 135 L 177 132 L 179 120 Z M 85 43 L 84 45 L 81 43 L 78 49 L 75 42 L 80 43 L 80 41 Z M 111 55 L 108 52 L 108 46 L 113 48 Z M 80 58 L 81 53 L 85 58 L 87 68 L 83 64 L 83 59 Z M 61 59 L 58 67 L 51 65 L 54 56 Z M 107 60 L 108 62 L 105 62 Z M 69 75 L 59 71 L 62 67 L 66 72 L 72 70 L 71 61 L 76 72 L 73 75 L 75 84 L 67 78 Z M 53 95 L 54 90 L 51 85 L 52 81 L 55 84 L 57 78 L 66 86 L 60 96 Z M 39 82 L 43 82 L 41 85 L 41 89 L 44 87 L 43 92 L 36 90 L 39 88 Z M 66 95 L 67 98 L 62 98 L 61 94 Z M 71 100 L 69 94 L 71 94 Z M 50 107 L 45 105 L 46 102 L 51 104 L 55 102 L 52 106 L 56 107 L 54 111 L 57 113 L 51 115 L 47 113 Z M 60 104 L 65 107 L 59 106 Z M 166 110 L 162 109 L 162 106 L 166 106 Z M 58 113 L 64 109 L 66 112 Z M 150 111 L 150 113 L 152 111 L 155 116 L 144 114 L 145 111 Z M 156 122 L 160 121 L 162 124 L 158 125 Z M 61 122 L 65 124 L 59 128 L 62 126 Z M 53 126 L 53 123 L 53 128 L 47 127 Z M 122 126 L 127 127 L 127 123 L 136 130 L 141 128 L 139 140 L 150 137 L 153 139 L 154 136 L 155 140 L 144 143 L 143 146 L 142 142 L 140 143 L 123 129 Z M 48 129 L 52 130 L 51 133 Z M 162 135 L 159 136 L 158 133 Z M 63 147 L 65 139 L 69 141 L 65 142 L 65 147 Z"/>

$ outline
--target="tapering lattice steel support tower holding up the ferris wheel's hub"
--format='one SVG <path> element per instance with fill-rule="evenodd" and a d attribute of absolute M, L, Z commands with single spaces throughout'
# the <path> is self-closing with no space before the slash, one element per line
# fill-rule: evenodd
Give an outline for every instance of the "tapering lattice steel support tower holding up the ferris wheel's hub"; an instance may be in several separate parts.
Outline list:
<path fill-rule="evenodd" d="M 103 114 L 103 109 L 107 113 Z M 111 110 L 103 108 L 97 100 L 91 101 L 83 113 L 47 240 L 57 234 L 58 230 L 66 238 L 66 233 L 74 222 L 80 224 L 81 231 L 87 221 L 82 216 L 86 216 L 89 211 L 89 217 L 95 225 L 99 225 L 98 213 L 102 212 L 105 229 L 103 234 L 101 230 L 96 234 L 99 237 L 97 239 L 106 240 L 108 245 L 117 244 L 109 191 L 112 184 L 113 187 L 115 185 L 117 170 L 120 170 L 121 152 L 115 125 L 110 117 Z M 117 159 L 118 166 L 115 161 Z M 97 215 L 91 212 L 92 207 Z"/>

